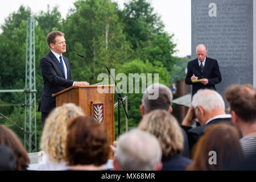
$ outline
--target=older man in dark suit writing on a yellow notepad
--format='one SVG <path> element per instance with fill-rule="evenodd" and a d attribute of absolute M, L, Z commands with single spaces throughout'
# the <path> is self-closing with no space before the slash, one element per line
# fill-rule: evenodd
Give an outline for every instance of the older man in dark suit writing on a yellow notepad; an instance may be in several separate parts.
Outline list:
<path fill-rule="evenodd" d="M 217 60 L 207 57 L 207 48 L 204 44 L 196 47 L 197 59 L 188 62 L 188 72 L 185 83 L 192 85 L 192 97 L 199 89 L 216 90 L 215 84 L 221 82 L 221 73 Z M 192 80 L 200 80 L 192 82 Z"/>

